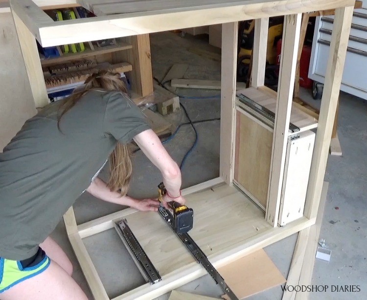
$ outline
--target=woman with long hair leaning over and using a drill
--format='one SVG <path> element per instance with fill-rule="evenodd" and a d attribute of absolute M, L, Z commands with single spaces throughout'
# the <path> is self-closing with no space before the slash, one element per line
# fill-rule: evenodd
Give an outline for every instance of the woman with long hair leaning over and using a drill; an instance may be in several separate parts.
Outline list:
<path fill-rule="evenodd" d="M 163 201 L 184 204 L 181 172 L 126 96 L 119 74 L 100 71 L 68 99 L 25 122 L 0 153 L 0 299 L 83 300 L 72 265 L 48 237 L 85 191 L 140 211 L 158 201 L 126 195 L 132 139 L 161 171 Z M 110 180 L 96 177 L 110 155 Z"/>

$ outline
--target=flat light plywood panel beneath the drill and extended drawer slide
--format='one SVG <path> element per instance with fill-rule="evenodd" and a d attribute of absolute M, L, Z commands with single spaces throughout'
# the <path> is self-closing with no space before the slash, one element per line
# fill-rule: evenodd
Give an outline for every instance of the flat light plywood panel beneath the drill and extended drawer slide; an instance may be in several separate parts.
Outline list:
<path fill-rule="evenodd" d="M 187 195 L 186 199 L 194 210 L 194 227 L 189 234 L 209 259 L 271 228 L 260 209 L 226 184 Z M 159 214 L 137 212 L 126 219 L 162 277 L 196 264 Z"/>

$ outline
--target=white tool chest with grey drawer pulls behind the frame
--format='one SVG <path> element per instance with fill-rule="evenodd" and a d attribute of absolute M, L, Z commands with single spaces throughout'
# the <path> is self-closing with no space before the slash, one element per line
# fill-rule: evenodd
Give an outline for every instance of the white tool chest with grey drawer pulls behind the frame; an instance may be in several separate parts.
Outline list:
<path fill-rule="evenodd" d="M 355 9 L 341 90 L 367 99 L 367 0 Z M 317 17 L 308 77 L 324 83 L 334 16 Z"/>

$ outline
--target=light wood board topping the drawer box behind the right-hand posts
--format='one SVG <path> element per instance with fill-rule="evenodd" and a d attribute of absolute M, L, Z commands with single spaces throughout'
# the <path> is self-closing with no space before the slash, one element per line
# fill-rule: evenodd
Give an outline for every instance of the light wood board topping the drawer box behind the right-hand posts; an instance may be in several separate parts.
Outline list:
<path fill-rule="evenodd" d="M 238 92 L 275 113 L 276 93 L 272 95 L 261 88 L 256 89 L 253 87 L 245 90 L 239 90 Z M 299 109 L 295 103 L 292 103 L 291 123 L 298 126 L 300 128 L 300 132 L 314 129 L 318 126 L 318 120 Z"/>

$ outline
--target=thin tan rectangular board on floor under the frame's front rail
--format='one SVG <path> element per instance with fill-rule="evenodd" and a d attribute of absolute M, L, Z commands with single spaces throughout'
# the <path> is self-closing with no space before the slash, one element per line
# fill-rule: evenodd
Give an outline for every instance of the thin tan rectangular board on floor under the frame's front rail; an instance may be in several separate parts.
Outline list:
<path fill-rule="evenodd" d="M 219 268 L 218 272 L 238 299 L 280 286 L 286 281 L 263 249 Z M 222 298 L 228 300 L 227 295 Z"/>

